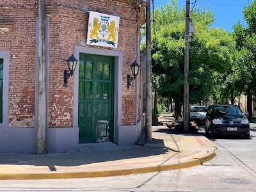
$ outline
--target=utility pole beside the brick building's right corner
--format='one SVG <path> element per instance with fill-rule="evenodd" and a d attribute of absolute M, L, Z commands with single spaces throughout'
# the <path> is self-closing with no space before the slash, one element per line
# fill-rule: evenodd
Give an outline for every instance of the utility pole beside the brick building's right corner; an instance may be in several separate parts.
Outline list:
<path fill-rule="evenodd" d="M 151 20 L 150 1 L 146 6 L 146 130 L 145 141 L 152 141 L 152 89 L 151 89 Z"/>

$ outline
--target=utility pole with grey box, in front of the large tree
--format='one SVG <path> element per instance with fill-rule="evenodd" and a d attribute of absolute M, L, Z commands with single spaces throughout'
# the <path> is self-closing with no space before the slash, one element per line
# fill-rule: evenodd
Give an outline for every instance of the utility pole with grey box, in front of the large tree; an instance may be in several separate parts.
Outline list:
<path fill-rule="evenodd" d="M 189 132 L 189 0 L 186 0 L 186 26 L 185 26 L 185 51 L 184 51 L 184 104 L 183 104 L 183 132 Z"/>

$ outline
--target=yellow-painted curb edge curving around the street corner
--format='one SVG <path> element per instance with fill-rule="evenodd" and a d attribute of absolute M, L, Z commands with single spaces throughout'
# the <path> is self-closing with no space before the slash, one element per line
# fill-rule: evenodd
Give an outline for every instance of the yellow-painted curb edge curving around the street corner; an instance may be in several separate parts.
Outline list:
<path fill-rule="evenodd" d="M 214 152 L 211 152 L 204 157 L 191 159 L 183 163 L 175 164 L 164 164 L 158 166 L 148 166 L 145 168 L 129 168 L 120 170 L 109 170 L 109 171 L 97 171 L 97 172 L 61 172 L 61 173 L 0 173 L 0 180 L 9 179 L 72 179 L 72 178 L 88 178 L 88 177 L 110 177 L 119 175 L 131 175 L 138 173 L 149 173 L 149 172 L 161 172 L 166 170 L 177 170 L 181 168 L 189 168 L 192 166 L 202 165 L 202 163 L 213 159 L 216 156 L 217 148 Z"/>

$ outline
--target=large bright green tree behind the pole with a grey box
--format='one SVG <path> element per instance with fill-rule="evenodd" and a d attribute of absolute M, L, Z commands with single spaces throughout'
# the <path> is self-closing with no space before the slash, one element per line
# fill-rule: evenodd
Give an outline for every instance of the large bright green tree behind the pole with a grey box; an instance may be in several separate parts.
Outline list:
<path fill-rule="evenodd" d="M 152 83 L 161 97 L 175 100 L 175 111 L 179 111 L 184 93 L 185 10 L 179 10 L 172 0 L 154 13 Z M 224 29 L 209 29 L 214 21 L 209 8 L 196 8 L 191 19 L 195 33 L 189 40 L 189 102 L 193 104 L 212 93 L 215 72 L 224 73 L 231 67 L 236 43 Z"/>

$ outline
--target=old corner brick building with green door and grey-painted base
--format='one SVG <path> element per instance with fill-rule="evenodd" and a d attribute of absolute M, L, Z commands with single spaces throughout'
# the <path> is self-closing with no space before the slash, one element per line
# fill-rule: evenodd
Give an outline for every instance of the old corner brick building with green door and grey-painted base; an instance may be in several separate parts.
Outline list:
<path fill-rule="evenodd" d="M 45 1 L 47 152 L 97 141 L 132 145 L 140 136 L 141 70 L 129 88 L 127 74 L 132 75 L 134 61 L 140 65 L 144 7 L 143 0 Z M 90 22 L 93 14 L 101 17 L 95 22 L 100 26 Z M 114 22 L 111 37 L 112 17 L 119 26 Z M 36 152 L 38 31 L 38 1 L 0 2 L 0 152 Z M 71 54 L 79 62 L 65 87 L 63 71 Z"/>

